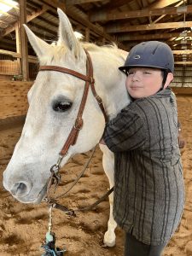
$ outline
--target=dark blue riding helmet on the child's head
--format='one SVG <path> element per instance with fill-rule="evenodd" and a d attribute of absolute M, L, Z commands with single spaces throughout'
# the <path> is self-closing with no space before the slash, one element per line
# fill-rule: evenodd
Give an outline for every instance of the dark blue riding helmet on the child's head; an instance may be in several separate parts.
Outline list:
<path fill-rule="evenodd" d="M 131 67 L 156 67 L 166 72 L 174 72 L 172 49 L 159 41 L 148 41 L 134 46 L 119 70 L 127 72 Z"/>

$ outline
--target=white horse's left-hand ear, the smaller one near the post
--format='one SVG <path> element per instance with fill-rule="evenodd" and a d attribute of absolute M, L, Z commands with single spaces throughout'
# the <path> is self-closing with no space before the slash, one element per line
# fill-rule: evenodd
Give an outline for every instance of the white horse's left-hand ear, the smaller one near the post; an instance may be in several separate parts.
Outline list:
<path fill-rule="evenodd" d="M 43 55 L 46 55 L 48 50 L 50 49 L 50 45 L 44 42 L 44 40 L 38 38 L 31 29 L 28 28 L 25 24 L 23 26 L 26 29 L 26 34 L 29 39 L 30 44 L 32 45 L 32 48 L 38 55 L 38 59 L 40 59 Z"/>

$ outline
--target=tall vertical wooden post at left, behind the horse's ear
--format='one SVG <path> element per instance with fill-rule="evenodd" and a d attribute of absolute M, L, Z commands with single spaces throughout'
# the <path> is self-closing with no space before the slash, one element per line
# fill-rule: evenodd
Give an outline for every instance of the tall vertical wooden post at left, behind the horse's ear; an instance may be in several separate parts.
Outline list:
<path fill-rule="evenodd" d="M 26 32 L 23 24 L 26 24 L 26 0 L 20 0 L 20 53 L 21 53 L 21 70 L 23 81 L 29 80 L 29 63 L 28 47 Z"/>

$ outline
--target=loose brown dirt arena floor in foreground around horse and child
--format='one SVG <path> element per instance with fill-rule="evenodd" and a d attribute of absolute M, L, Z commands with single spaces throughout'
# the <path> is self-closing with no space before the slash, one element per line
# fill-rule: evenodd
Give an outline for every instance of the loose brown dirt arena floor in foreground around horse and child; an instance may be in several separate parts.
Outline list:
<path fill-rule="evenodd" d="M 172 241 L 166 247 L 164 256 L 192 255 L 192 96 L 177 96 L 178 116 L 183 125 L 186 147 L 182 149 L 183 175 L 186 188 L 186 205 L 182 222 Z M 2 125 L 0 131 L 0 256 L 41 255 L 40 248 L 48 230 L 48 207 L 24 205 L 15 201 L 3 189 L 2 174 L 20 137 L 22 120 L 15 125 Z M 4 129 L 6 128 L 6 129 Z M 80 154 L 70 160 L 62 170 L 62 183 L 58 190 L 67 189 L 70 182 L 81 171 L 88 154 Z M 99 148 L 79 183 L 69 195 L 61 200 L 69 208 L 83 207 L 96 201 L 108 189 L 108 179 L 102 169 L 102 153 Z M 68 218 L 63 212 L 54 210 L 53 231 L 56 245 L 65 247 L 65 256 L 123 256 L 124 233 L 116 230 L 116 246 L 102 247 L 102 238 L 108 224 L 108 200 L 96 210 L 78 213 L 76 218 Z M 138 255 L 139 256 L 139 255 Z"/>

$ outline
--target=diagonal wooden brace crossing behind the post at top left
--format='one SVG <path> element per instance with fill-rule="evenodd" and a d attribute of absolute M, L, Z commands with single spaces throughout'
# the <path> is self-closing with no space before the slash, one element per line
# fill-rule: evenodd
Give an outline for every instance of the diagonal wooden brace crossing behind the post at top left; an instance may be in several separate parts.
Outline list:
<path fill-rule="evenodd" d="M 32 15 L 26 16 L 26 23 L 37 18 L 39 15 L 44 14 L 48 9 L 49 9 L 49 6 L 44 4 L 42 9 L 38 9 L 38 11 L 32 12 Z M 6 35 L 8 35 L 10 32 L 15 31 L 15 28 L 18 26 L 18 24 L 19 22 L 15 22 L 13 26 L 6 28 L 4 32 L 1 33 L 0 38 L 3 38 Z"/>

